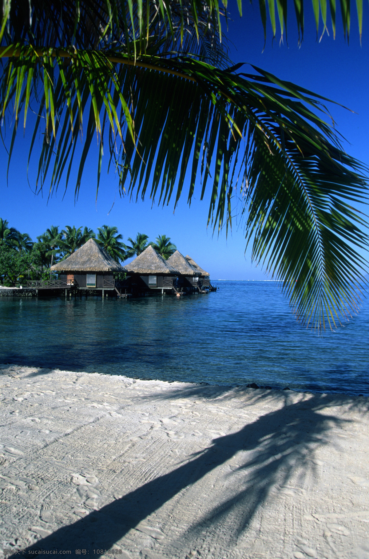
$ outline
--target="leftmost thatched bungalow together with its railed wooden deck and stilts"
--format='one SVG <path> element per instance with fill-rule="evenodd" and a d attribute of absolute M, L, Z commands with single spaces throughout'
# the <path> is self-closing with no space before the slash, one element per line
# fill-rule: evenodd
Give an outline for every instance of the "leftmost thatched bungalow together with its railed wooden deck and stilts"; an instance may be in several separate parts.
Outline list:
<path fill-rule="evenodd" d="M 124 273 L 120 264 L 96 243 L 89 239 L 81 248 L 68 258 L 54 264 L 51 272 L 58 272 L 58 280 L 30 281 L 27 287 L 38 290 L 65 290 L 65 295 L 73 291 L 101 292 L 102 296 L 121 296 L 121 287 L 115 281 L 115 272 Z"/>

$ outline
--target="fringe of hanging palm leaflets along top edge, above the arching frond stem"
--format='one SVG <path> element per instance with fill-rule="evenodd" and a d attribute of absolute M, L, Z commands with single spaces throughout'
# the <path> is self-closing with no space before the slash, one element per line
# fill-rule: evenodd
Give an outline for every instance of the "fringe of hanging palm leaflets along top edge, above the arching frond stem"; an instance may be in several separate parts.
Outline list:
<path fill-rule="evenodd" d="M 250 0 L 252 3 L 252 0 Z M 242 0 L 238 0 L 238 11 L 242 15 Z M 264 38 L 267 33 L 267 18 L 271 23 L 273 37 L 280 33 L 287 35 L 287 10 L 291 4 L 286 0 L 258 0 Z M 316 36 L 321 39 L 328 26 L 336 32 L 337 12 L 340 12 L 344 36 L 351 31 L 352 4 L 349 0 L 313 0 L 312 6 L 301 0 L 294 0 L 299 40 L 304 37 L 304 18 L 307 10 L 313 10 Z M 361 41 L 363 23 L 363 2 L 356 1 L 358 31 Z M 181 45 L 184 53 L 192 49 L 197 54 L 224 59 L 224 51 L 219 48 L 221 38 L 221 18 L 227 18 L 228 2 L 220 7 L 216 0 L 182 0 L 162 2 L 160 0 L 64 0 L 55 2 L 32 0 L 15 2 L 4 0 L 0 41 L 7 44 L 29 42 L 33 46 L 69 46 L 75 48 L 106 48 L 109 44 L 131 45 L 131 53 L 146 53 L 150 37 L 154 34 L 164 42 Z M 268 16 L 268 17 L 267 17 Z M 278 30 L 279 24 L 279 30 Z M 247 21 L 245 22 L 247 26 Z M 323 30 L 321 29 L 323 26 Z M 320 36 L 319 36 L 320 35 Z M 201 39 L 205 37 L 204 43 Z M 192 46 L 192 48 L 188 48 Z M 210 47 L 210 48 L 209 48 Z M 165 50 L 165 48 L 164 48 Z M 210 61 L 210 60 L 207 60 Z"/>

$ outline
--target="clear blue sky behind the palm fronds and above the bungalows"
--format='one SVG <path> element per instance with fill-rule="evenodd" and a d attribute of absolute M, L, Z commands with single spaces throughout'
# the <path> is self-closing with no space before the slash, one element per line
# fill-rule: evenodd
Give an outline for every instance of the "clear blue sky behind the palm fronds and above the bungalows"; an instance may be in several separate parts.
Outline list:
<path fill-rule="evenodd" d="M 235 6 L 235 4 L 234 4 Z M 302 87 L 329 97 L 351 108 L 355 113 L 332 105 L 330 111 L 337 123 L 337 129 L 347 139 L 348 153 L 369 164 L 369 9 L 365 3 L 362 46 L 359 44 L 356 11 L 352 10 L 351 39 L 349 46 L 343 39 L 342 25 L 337 18 L 337 36 L 325 34 L 321 42 L 316 41 L 315 24 L 311 4 L 306 3 L 305 37 L 299 48 L 294 8 L 290 10 L 288 46 L 274 41 L 268 30 L 266 48 L 258 2 L 250 6 L 244 2 L 243 17 L 239 18 L 236 8 L 230 5 L 233 21 L 229 22 L 227 36 L 230 44 L 230 58 L 257 65 L 278 77 L 290 80 Z M 340 16 L 339 16 L 340 17 Z M 329 30 L 330 31 L 330 30 Z M 245 67 L 247 68 L 247 67 Z M 247 71 L 247 70 L 246 70 Z M 35 196 L 26 177 L 27 156 L 29 151 L 32 123 L 23 139 L 18 132 L 15 150 L 10 166 L 8 186 L 6 182 L 7 154 L 0 147 L 2 176 L 0 179 L 0 216 L 10 225 L 33 239 L 50 225 L 87 225 L 96 230 L 108 224 L 116 225 L 120 233 L 127 237 L 135 236 L 138 231 L 154 240 L 158 234 L 166 234 L 183 254 L 190 254 L 203 268 L 210 272 L 212 279 L 265 279 L 264 273 L 250 263 L 250 255 L 244 255 L 245 240 L 242 229 L 234 228 L 228 239 L 225 233 L 219 238 L 212 237 L 206 229 L 207 200 L 200 202 L 197 193 L 191 208 L 186 197 L 179 201 L 173 215 L 173 204 L 168 207 L 151 207 L 151 201 L 129 202 L 120 198 L 117 190 L 118 180 L 112 172 L 102 171 L 101 186 L 95 203 L 96 170 L 95 156 L 82 179 L 82 187 L 77 203 L 74 204 L 74 185 L 70 182 L 63 199 L 63 188 L 49 201 L 47 186 L 44 197 Z M 4 126 L 3 126 L 4 129 Z M 10 134 L 7 132 L 7 139 Z M 34 187 L 36 177 L 36 158 L 30 168 L 30 184 Z M 113 206 L 113 207 L 112 207 Z"/>

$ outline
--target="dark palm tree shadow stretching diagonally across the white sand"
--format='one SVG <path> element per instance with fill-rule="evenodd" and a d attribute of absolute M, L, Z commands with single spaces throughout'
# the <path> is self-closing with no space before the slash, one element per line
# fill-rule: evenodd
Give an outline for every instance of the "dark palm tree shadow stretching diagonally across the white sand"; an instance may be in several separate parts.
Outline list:
<path fill-rule="evenodd" d="M 217 402 L 221 387 L 218 387 Z M 186 395 L 204 397 L 202 387 L 173 391 L 171 398 Z M 235 393 L 233 391 L 233 397 Z M 263 401 L 268 393 L 252 399 L 252 402 Z M 158 395 L 153 399 L 162 399 Z M 225 398 L 227 396 L 225 395 Z M 346 423 L 334 415 L 324 415 L 321 410 L 344 404 L 356 406 L 362 413 L 367 413 L 367 404 L 357 404 L 357 399 L 349 396 L 332 396 L 325 394 L 311 395 L 309 399 L 292 401 L 280 393 L 281 408 L 259 417 L 253 423 L 246 424 L 235 433 L 212 440 L 211 446 L 192 455 L 190 461 L 178 465 L 165 475 L 138 487 L 93 511 L 88 517 L 56 530 L 33 546 L 27 548 L 30 554 L 39 550 L 58 549 L 110 549 L 114 543 L 125 536 L 131 528 L 135 528 L 142 520 L 154 513 L 167 501 L 171 500 L 185 487 L 196 482 L 215 468 L 224 465 L 236 453 L 248 452 L 247 460 L 236 470 L 235 474 L 243 474 L 233 496 L 210 510 L 202 520 L 195 521 L 185 534 L 186 541 L 195 541 L 204 529 L 211 525 L 224 522 L 236 507 L 242 507 L 242 515 L 238 521 L 231 523 L 229 541 L 236 541 L 250 520 L 276 484 L 287 484 L 296 471 L 311 472 L 314 475 L 314 453 L 316 449 L 329 442 L 329 430 Z M 145 397 L 147 401 L 148 398 Z M 284 403 L 283 403 L 284 402 Z M 241 456 L 241 455 L 240 455 Z M 242 458 L 240 459 L 242 461 Z M 229 475 L 232 475 L 230 473 Z M 211 489 L 209 488 L 209 491 Z M 178 541 L 176 547 L 178 547 Z M 94 552 L 96 554 L 96 551 Z"/>

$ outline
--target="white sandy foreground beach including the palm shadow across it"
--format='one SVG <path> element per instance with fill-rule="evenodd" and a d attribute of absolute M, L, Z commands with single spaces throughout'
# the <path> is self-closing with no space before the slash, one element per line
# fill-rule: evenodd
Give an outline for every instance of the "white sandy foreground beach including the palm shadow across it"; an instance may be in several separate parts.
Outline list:
<path fill-rule="evenodd" d="M 369 558 L 367 398 L 0 373 L 7 555 Z"/>

